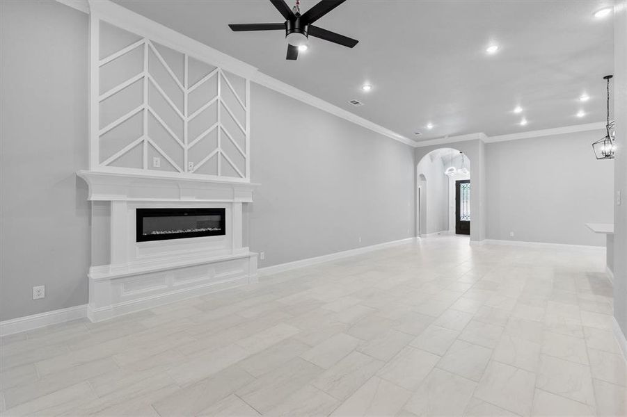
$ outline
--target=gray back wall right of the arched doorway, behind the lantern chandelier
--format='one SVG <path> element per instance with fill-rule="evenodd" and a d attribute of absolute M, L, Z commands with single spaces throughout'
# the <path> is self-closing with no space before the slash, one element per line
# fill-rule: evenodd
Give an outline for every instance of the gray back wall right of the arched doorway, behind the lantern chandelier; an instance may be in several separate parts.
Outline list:
<path fill-rule="evenodd" d="M 603 134 L 487 144 L 487 238 L 605 245 L 604 235 L 585 227 L 587 222 L 612 222 L 614 163 L 596 161 L 591 147 Z"/>

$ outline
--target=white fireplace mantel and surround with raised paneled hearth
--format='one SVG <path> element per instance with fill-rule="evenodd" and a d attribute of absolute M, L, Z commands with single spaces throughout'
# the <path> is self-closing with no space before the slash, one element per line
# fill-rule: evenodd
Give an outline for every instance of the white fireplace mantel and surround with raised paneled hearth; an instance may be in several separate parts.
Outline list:
<path fill-rule="evenodd" d="M 93 321 L 257 281 L 257 254 L 243 245 L 242 205 L 259 184 L 82 170 L 88 199 L 108 206 L 108 227 L 92 221 L 92 245 L 109 244 L 109 263 L 88 272 Z M 137 208 L 225 209 L 225 234 L 136 241 Z M 99 220 L 100 221 L 100 220 Z"/>

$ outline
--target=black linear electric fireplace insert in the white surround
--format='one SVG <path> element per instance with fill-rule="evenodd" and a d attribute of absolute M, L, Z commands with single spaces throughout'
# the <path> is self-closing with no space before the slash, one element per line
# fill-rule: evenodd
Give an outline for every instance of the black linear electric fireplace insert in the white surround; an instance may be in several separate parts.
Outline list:
<path fill-rule="evenodd" d="M 136 241 L 220 236 L 225 230 L 224 208 L 137 208 Z"/>

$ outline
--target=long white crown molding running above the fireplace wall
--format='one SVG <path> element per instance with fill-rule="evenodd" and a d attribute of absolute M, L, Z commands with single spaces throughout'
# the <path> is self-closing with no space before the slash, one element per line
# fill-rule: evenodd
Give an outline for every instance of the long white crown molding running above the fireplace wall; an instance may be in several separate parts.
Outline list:
<path fill-rule="evenodd" d="M 391 131 L 386 127 L 380 126 L 379 124 L 371 122 L 370 120 L 366 120 L 363 117 L 344 110 L 343 108 L 340 108 L 338 106 L 335 106 L 328 101 L 324 101 L 319 97 L 310 95 L 308 92 L 300 90 L 293 85 L 289 85 L 287 83 L 284 83 L 283 81 L 279 81 L 278 79 L 275 79 L 267 74 L 260 72 L 259 70 L 257 70 L 256 67 L 253 67 L 252 65 L 249 65 L 244 61 L 224 54 L 217 49 L 207 46 L 203 42 L 193 40 L 192 38 L 189 38 L 188 36 L 183 35 L 180 32 L 174 31 L 167 26 L 154 22 L 153 20 L 148 19 L 143 15 L 135 13 L 132 10 L 124 8 L 109 0 L 56 1 L 61 4 L 65 4 L 65 6 L 70 6 L 88 14 L 90 13 L 90 10 L 93 10 L 95 13 L 98 14 L 98 17 L 100 17 L 100 19 L 104 19 L 105 21 L 111 21 L 112 24 L 120 26 L 127 31 L 138 33 L 138 35 L 143 35 L 146 38 L 153 39 L 160 44 L 164 44 L 166 47 L 177 49 L 178 51 L 182 51 L 190 56 L 196 56 L 198 58 L 202 58 L 203 60 L 208 60 L 212 64 L 223 68 L 223 70 L 232 72 L 239 76 L 243 76 L 244 78 L 250 79 L 257 84 L 280 92 L 283 95 L 287 95 L 288 97 L 292 97 L 293 99 L 302 101 L 305 104 L 309 104 L 310 106 L 319 108 L 322 111 L 326 111 L 327 113 L 331 113 L 332 115 L 341 117 L 344 120 L 353 122 L 354 124 L 358 124 L 359 126 L 370 129 L 371 131 L 379 133 L 390 139 L 402 142 L 405 145 L 409 145 L 411 147 L 415 146 L 415 142 L 413 140 L 408 139 L 405 136 L 396 133 L 395 131 Z"/>

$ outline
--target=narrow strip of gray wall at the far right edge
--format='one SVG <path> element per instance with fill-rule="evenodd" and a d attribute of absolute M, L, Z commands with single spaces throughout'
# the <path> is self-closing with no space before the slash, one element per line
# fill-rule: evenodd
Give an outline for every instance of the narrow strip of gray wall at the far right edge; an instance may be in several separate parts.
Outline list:
<path fill-rule="evenodd" d="M 614 317 L 627 335 L 627 0 L 617 1 L 614 15 L 614 118 L 618 146 L 614 187 Z M 627 352 L 624 352 L 627 355 Z"/>

